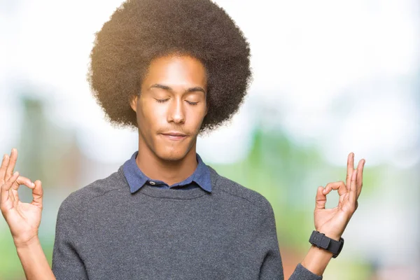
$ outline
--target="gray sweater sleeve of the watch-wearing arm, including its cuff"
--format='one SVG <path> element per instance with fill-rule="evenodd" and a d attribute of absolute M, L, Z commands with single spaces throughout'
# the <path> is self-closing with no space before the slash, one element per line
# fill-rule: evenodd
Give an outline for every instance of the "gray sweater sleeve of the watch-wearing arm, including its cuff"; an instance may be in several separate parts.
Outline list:
<path fill-rule="evenodd" d="M 279 279 L 283 280 L 283 265 L 281 262 L 281 255 L 279 250 L 279 241 L 276 233 L 276 221 L 274 218 L 274 211 L 268 200 L 264 200 L 265 205 L 262 213 L 261 228 L 263 229 L 262 237 L 265 237 L 265 244 L 267 244 L 267 253 L 260 268 L 259 279 Z M 296 266 L 295 271 L 290 276 L 289 280 L 322 280 L 323 277 L 309 271 L 300 263 Z"/>

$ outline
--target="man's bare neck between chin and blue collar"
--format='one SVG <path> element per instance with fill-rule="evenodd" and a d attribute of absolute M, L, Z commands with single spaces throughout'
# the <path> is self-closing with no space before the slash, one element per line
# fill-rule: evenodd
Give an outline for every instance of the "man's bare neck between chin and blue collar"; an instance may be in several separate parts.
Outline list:
<path fill-rule="evenodd" d="M 137 166 L 148 178 L 164 181 L 169 186 L 184 181 L 197 168 L 196 143 L 180 160 L 163 160 L 153 153 L 139 136 L 139 153 Z"/>

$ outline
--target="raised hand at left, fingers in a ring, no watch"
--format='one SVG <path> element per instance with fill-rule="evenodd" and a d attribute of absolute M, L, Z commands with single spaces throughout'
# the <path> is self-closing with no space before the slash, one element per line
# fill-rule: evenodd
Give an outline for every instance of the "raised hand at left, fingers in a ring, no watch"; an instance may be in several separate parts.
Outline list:
<path fill-rule="evenodd" d="M 10 158 L 4 155 L 0 167 L 0 209 L 6 219 L 6 223 L 12 233 L 16 246 L 29 244 L 38 239 L 38 228 L 41 223 L 42 196 L 43 190 L 41 181 L 34 183 L 31 180 L 19 176 L 19 172 L 13 174 L 18 150 L 12 149 Z M 32 189 L 31 203 L 24 203 L 19 200 L 18 188 L 25 185 Z"/>

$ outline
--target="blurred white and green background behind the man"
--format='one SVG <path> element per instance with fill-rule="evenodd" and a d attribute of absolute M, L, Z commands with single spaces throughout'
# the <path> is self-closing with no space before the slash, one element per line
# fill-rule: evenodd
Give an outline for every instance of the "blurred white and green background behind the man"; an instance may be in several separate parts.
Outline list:
<path fill-rule="evenodd" d="M 18 148 L 15 170 L 43 181 L 49 261 L 62 200 L 137 151 L 85 78 L 94 32 L 121 2 L 0 0 L 0 152 Z M 350 152 L 366 160 L 363 192 L 324 279 L 420 279 L 419 1 L 216 3 L 251 44 L 253 83 L 197 151 L 272 203 L 286 279 L 309 249 L 316 188 L 345 181 Z M 0 279 L 25 279 L 3 218 Z"/>

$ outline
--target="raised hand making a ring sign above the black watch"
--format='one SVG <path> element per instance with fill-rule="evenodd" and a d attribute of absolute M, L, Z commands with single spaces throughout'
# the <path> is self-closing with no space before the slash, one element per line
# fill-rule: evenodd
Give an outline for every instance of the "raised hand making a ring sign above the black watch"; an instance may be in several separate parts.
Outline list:
<path fill-rule="evenodd" d="M 363 167 L 365 160 L 358 162 L 354 169 L 354 154 L 347 158 L 346 184 L 343 181 L 328 183 L 325 188 L 318 187 L 316 192 L 316 206 L 314 211 L 315 229 L 335 240 L 339 240 L 349 223 L 351 216 L 358 207 L 358 197 L 363 186 Z M 327 195 L 331 190 L 338 190 L 338 206 L 325 209 Z"/>

